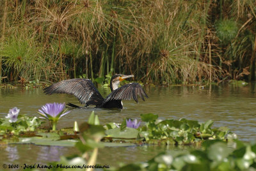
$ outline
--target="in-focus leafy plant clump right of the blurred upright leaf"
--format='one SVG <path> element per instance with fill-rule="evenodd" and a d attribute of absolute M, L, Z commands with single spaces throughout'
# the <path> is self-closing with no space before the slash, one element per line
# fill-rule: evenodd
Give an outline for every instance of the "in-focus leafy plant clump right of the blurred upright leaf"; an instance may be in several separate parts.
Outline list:
<path fill-rule="evenodd" d="M 227 137 L 234 136 L 228 133 L 227 128 L 211 128 L 213 121 L 200 124 L 198 121 L 187 119 L 161 121 L 157 118 L 158 116 L 154 114 L 141 114 L 145 126 L 141 126 L 138 130 L 127 128 L 125 119 L 120 128 L 116 128 L 116 124 L 108 123 L 105 126 L 108 129 L 105 132 L 106 138 L 112 142 L 131 142 L 127 138 L 134 138 L 138 144 L 200 145 L 204 140 L 226 140 Z"/>

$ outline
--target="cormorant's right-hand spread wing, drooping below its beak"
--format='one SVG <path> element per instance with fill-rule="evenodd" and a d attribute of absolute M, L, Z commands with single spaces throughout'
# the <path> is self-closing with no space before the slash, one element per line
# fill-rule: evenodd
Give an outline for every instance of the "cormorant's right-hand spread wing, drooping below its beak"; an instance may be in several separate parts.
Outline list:
<path fill-rule="evenodd" d="M 148 98 L 145 91 L 142 89 L 141 85 L 138 83 L 125 84 L 118 89 L 115 89 L 110 93 L 103 103 L 112 100 L 131 100 L 132 98 L 138 103 L 138 95 L 143 101 L 145 101 L 144 96 Z"/>

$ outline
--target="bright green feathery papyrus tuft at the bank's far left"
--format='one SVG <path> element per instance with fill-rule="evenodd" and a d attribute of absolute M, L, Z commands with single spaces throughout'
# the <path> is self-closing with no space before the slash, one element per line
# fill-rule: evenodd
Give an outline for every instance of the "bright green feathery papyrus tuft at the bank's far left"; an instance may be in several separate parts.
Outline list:
<path fill-rule="evenodd" d="M 20 78 L 40 79 L 42 66 L 45 66 L 42 57 L 42 48 L 38 42 L 29 36 L 29 32 L 17 31 L 6 38 L 0 48 L 0 56 L 3 56 L 4 73 L 12 72 L 10 80 Z"/>

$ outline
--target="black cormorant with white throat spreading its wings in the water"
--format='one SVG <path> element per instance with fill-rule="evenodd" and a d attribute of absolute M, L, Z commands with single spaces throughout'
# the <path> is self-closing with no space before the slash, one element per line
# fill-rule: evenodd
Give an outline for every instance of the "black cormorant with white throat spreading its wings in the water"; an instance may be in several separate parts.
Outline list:
<path fill-rule="evenodd" d="M 125 84 L 118 88 L 122 80 L 130 77 L 134 77 L 134 75 L 114 75 L 110 80 L 111 93 L 105 99 L 101 96 L 91 80 L 83 78 L 57 82 L 46 87 L 44 93 L 73 94 L 85 107 L 95 105 L 97 108 L 123 108 L 122 100 L 131 100 L 133 98 L 138 103 L 138 95 L 143 101 L 145 101 L 144 96 L 148 98 L 141 85 L 136 82 Z M 70 107 L 78 107 L 72 103 L 68 103 L 67 105 Z"/>

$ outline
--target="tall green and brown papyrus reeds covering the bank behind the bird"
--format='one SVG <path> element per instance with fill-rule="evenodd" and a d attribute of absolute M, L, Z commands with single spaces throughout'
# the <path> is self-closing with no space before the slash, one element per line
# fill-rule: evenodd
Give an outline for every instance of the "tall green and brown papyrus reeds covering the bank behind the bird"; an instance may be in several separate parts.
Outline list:
<path fill-rule="evenodd" d="M 0 83 L 255 80 L 255 13 L 252 0 L 4 0 Z"/>

